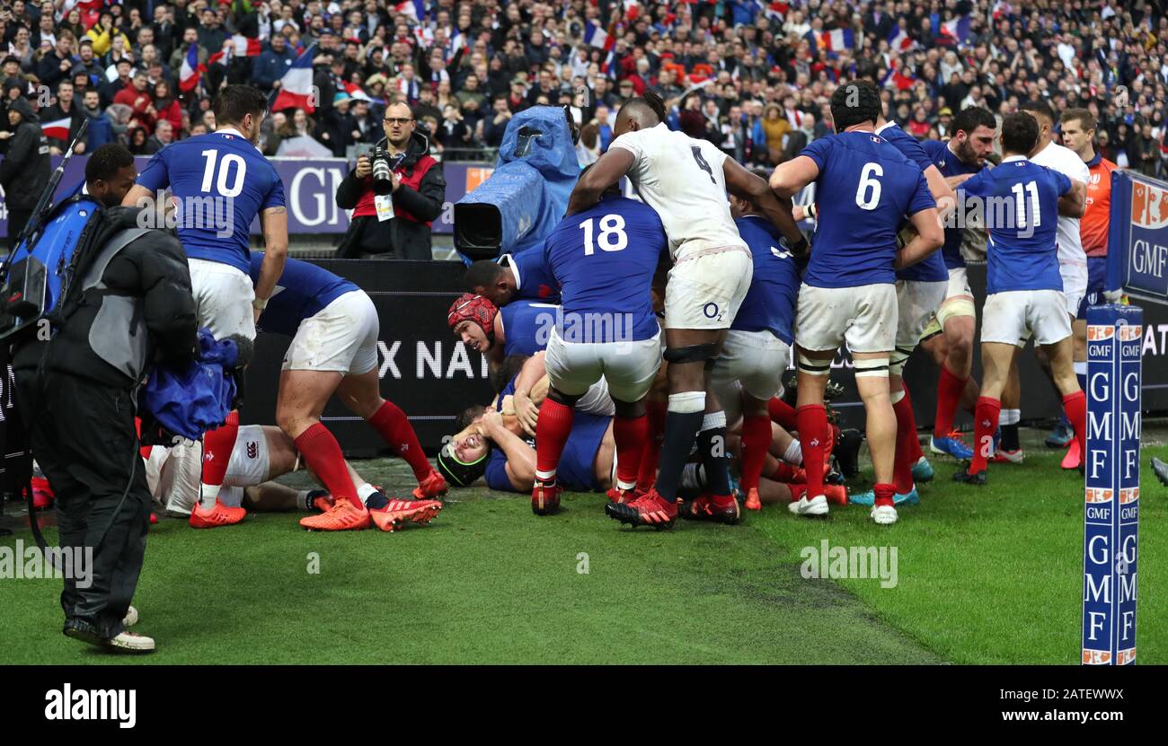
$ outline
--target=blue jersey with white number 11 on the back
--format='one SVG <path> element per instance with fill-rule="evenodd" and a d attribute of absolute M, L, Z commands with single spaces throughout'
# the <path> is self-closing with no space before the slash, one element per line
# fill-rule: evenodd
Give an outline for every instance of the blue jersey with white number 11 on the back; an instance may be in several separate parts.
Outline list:
<path fill-rule="evenodd" d="M 1063 290 L 1058 271 L 1058 197 L 1071 180 L 1021 155 L 983 168 L 961 184 L 966 197 L 985 200 L 989 228 L 986 293 Z"/>

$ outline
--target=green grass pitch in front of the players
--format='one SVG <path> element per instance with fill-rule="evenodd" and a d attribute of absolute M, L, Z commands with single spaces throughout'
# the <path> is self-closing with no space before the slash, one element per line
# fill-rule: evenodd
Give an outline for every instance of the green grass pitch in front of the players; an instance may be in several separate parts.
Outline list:
<path fill-rule="evenodd" d="M 1146 426 L 1141 454 L 1142 663 L 1168 662 L 1168 488 L 1148 468 L 1168 453 L 1164 434 Z M 486 489 L 452 491 L 432 525 L 396 534 L 307 534 L 292 514 L 211 531 L 164 520 L 135 598 L 157 654 L 68 640 L 60 580 L 0 579 L 0 662 L 1073 664 L 1082 482 L 1038 437 L 1027 434 L 1024 465 L 993 466 L 981 489 L 951 483 L 955 463 L 933 458 L 922 504 L 892 527 L 856 506 L 823 521 L 770 507 L 737 527 L 632 531 L 603 515 L 603 495 L 568 495 L 541 518 Z M 396 461 L 359 469 L 411 482 Z M 18 538 L 32 541 L 26 529 L 0 543 Z M 825 538 L 896 546 L 896 587 L 802 578 L 800 550 Z"/>

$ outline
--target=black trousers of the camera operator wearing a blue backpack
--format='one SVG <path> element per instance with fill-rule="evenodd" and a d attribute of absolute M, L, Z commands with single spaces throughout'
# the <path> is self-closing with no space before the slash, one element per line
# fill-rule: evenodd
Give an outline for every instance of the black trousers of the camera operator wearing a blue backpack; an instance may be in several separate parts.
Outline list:
<path fill-rule="evenodd" d="M 89 577 L 65 578 L 61 607 L 67 620 L 112 637 L 138 587 L 150 527 L 132 395 L 51 372 L 18 374 L 16 393 L 33 455 L 56 494 L 61 546 L 75 557 L 92 550 Z"/>

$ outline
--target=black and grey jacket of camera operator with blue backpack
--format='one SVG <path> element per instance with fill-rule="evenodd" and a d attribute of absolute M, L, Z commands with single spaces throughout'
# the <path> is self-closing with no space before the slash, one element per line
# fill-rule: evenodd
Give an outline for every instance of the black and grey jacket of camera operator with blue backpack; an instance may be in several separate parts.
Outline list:
<path fill-rule="evenodd" d="M 135 208 L 114 208 L 110 215 L 120 229 L 134 228 L 138 212 Z M 85 291 L 57 327 L 53 341 L 32 341 L 14 350 L 13 367 L 18 377 L 36 375 L 43 354 L 46 372 L 77 376 L 113 389 L 137 388 L 140 381 L 105 362 L 90 346 L 90 329 L 106 295 L 141 299 L 139 309 L 148 334 L 147 361 L 182 364 L 194 358 L 195 300 L 190 293 L 187 255 L 178 238 L 165 231 L 150 231 L 118 252 L 102 280 L 107 290 Z M 100 333 L 128 335 L 130 330 L 103 329 Z M 144 377 L 150 368 L 148 363 Z"/>

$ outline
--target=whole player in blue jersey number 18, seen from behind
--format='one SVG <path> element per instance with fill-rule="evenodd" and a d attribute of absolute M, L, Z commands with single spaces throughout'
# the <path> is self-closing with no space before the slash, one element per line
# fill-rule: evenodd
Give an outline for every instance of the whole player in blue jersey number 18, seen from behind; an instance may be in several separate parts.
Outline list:
<path fill-rule="evenodd" d="M 585 169 L 586 172 L 586 169 Z M 559 506 L 561 454 L 573 431 L 573 407 L 604 378 L 616 407 L 617 483 L 613 502 L 631 502 L 648 433 L 645 396 L 661 367 L 661 327 L 653 313 L 653 276 L 667 239 L 661 218 L 618 184 L 591 208 L 564 218 L 543 244 L 544 264 L 562 293 L 548 340 L 550 389 L 540 407 L 531 510 Z M 729 496 L 737 518 L 738 503 Z"/>

